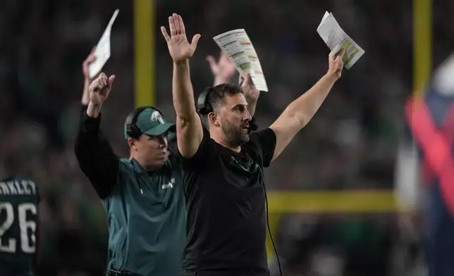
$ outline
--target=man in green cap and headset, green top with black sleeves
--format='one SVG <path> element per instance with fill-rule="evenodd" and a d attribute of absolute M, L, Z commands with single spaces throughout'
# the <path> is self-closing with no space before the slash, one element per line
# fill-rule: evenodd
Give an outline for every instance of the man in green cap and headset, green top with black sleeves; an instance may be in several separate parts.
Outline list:
<path fill-rule="evenodd" d="M 107 275 L 178 275 L 185 246 L 186 210 L 180 165 L 168 156 L 167 123 L 157 108 L 128 115 L 130 158 L 118 158 L 99 130 L 102 103 L 114 76 L 101 73 L 89 87 L 75 155 L 102 199 L 109 224 Z"/>

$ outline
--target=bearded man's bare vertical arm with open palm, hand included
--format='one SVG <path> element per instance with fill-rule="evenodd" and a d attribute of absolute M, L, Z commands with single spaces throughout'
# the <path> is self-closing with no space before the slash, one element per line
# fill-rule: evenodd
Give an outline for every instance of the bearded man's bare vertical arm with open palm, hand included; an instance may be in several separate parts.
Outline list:
<path fill-rule="evenodd" d="M 195 35 L 189 43 L 185 25 L 180 15 L 168 17 L 171 36 L 161 27 L 168 51 L 173 60 L 172 94 L 176 111 L 176 131 L 178 151 L 185 158 L 191 158 L 199 149 L 203 139 L 200 117 L 195 110 L 194 91 L 190 80 L 189 59 L 194 54 L 200 35 Z"/>

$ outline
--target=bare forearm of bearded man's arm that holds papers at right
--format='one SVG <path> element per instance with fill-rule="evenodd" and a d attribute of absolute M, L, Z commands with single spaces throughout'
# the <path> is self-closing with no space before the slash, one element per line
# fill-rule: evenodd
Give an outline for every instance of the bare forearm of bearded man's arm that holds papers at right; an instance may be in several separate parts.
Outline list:
<path fill-rule="evenodd" d="M 295 101 L 290 103 L 282 115 L 289 121 L 297 120 L 300 129 L 305 127 L 305 125 L 309 123 L 309 120 L 311 120 L 319 110 L 321 103 L 324 102 L 326 96 L 328 96 L 331 91 L 333 84 L 337 80 L 338 77 L 335 75 L 324 75 L 305 94 L 302 94 Z"/>

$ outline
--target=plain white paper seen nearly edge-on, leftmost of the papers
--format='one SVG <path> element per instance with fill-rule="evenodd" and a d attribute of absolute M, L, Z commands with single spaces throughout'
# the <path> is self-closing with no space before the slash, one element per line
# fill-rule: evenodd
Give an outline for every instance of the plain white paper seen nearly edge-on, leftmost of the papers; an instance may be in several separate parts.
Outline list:
<path fill-rule="evenodd" d="M 119 11 L 120 10 L 118 10 L 118 8 L 115 10 L 114 15 L 112 15 L 112 18 L 106 27 L 106 30 L 104 30 L 101 39 L 99 39 L 96 50 L 94 50 L 94 57 L 96 59 L 88 65 L 90 78 L 93 78 L 101 72 L 102 67 L 111 57 L 111 30 Z"/>

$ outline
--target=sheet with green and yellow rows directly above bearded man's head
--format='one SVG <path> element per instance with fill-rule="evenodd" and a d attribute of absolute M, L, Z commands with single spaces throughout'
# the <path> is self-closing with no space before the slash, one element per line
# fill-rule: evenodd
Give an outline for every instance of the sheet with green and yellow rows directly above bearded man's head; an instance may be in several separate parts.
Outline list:
<path fill-rule="evenodd" d="M 224 32 L 221 35 L 216 35 L 213 39 L 223 53 L 235 64 L 236 70 L 243 77 L 246 76 L 246 73 L 250 73 L 255 88 L 259 91 L 268 92 L 259 57 L 244 29 Z"/>

